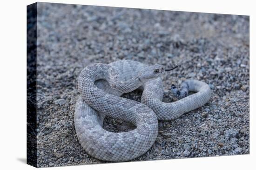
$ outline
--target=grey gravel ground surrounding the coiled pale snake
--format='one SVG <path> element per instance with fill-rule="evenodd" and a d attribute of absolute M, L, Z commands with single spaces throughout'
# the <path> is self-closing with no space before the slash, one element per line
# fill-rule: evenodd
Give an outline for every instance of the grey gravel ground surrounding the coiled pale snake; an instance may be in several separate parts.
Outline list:
<path fill-rule="evenodd" d="M 162 77 L 165 102 L 176 100 L 171 84 L 189 78 L 212 89 L 203 107 L 159 121 L 155 144 L 133 161 L 249 154 L 249 16 L 38 3 L 37 19 L 39 167 L 106 163 L 76 137 L 76 83 L 88 64 L 120 59 L 180 63 Z M 107 118 L 104 128 L 135 127 Z"/>

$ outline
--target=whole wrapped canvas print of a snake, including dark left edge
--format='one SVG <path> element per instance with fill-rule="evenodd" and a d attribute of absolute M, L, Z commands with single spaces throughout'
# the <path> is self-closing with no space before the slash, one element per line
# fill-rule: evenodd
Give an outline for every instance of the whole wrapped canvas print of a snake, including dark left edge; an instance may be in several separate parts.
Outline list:
<path fill-rule="evenodd" d="M 27 6 L 27 164 L 239 154 L 249 16 Z"/>

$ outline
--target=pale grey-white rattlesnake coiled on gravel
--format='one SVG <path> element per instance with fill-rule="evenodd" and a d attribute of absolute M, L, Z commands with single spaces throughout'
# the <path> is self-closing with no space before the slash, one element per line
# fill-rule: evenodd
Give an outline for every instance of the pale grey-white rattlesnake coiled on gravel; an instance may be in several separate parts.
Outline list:
<path fill-rule="evenodd" d="M 162 75 L 167 70 L 160 64 L 148 66 L 133 60 L 93 63 L 81 70 L 74 126 L 89 155 L 110 162 L 140 157 L 155 143 L 158 120 L 175 120 L 209 101 L 209 85 L 189 79 L 182 82 L 181 90 L 171 86 L 177 101 L 163 102 Z M 141 102 L 121 97 L 135 89 L 143 90 Z M 128 132 L 109 132 L 102 127 L 106 116 L 136 127 Z"/>

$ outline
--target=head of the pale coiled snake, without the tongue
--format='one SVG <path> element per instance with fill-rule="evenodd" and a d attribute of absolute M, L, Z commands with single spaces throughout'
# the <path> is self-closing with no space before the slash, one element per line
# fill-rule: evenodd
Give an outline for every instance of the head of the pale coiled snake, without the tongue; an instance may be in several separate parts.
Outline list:
<path fill-rule="evenodd" d="M 165 67 L 163 65 L 155 64 L 142 69 L 139 73 L 139 78 L 141 82 L 147 82 L 149 80 L 160 77 L 165 72 Z"/>

